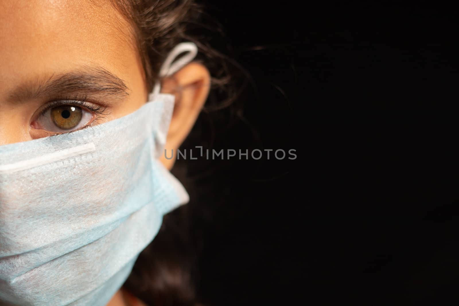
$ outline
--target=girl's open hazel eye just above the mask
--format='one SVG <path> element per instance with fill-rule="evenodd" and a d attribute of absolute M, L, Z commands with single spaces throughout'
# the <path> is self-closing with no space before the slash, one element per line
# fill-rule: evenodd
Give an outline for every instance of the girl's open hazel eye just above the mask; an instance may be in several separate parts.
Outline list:
<path fill-rule="evenodd" d="M 62 134 L 87 128 L 104 115 L 106 106 L 82 100 L 56 100 L 39 110 L 30 127 Z"/>

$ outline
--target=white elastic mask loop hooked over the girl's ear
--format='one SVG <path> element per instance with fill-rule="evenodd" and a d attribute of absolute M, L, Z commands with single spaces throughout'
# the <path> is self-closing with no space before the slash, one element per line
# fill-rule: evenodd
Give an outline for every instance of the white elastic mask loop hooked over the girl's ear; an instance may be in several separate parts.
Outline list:
<path fill-rule="evenodd" d="M 177 61 L 175 61 L 177 56 L 184 52 L 187 53 L 184 56 L 180 57 Z M 155 83 L 155 87 L 153 88 L 153 91 L 148 97 L 148 100 L 153 100 L 161 91 L 162 78 L 173 75 L 175 72 L 182 69 L 185 65 L 190 63 L 196 57 L 197 54 L 198 47 L 191 42 L 180 43 L 176 45 L 174 49 L 172 49 L 172 51 L 169 52 L 168 56 L 166 57 L 166 60 L 162 64 L 161 69 L 159 70 L 158 79 Z"/>

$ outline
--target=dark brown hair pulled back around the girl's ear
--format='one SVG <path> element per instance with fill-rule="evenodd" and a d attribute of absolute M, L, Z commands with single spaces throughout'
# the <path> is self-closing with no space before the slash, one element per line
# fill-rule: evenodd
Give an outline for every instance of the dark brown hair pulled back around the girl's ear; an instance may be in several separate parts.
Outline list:
<path fill-rule="evenodd" d="M 175 45 L 191 41 L 198 46 L 196 61 L 209 69 L 212 87 L 204 110 L 182 147 L 209 147 L 218 128 L 228 127 L 242 116 L 239 95 L 248 80 L 246 72 L 231 57 L 217 51 L 224 49 L 230 53 L 218 22 L 193 0 L 112 0 L 112 4 L 132 24 L 134 43 L 142 57 L 150 90 L 158 80 L 163 60 Z M 140 254 L 124 284 L 147 305 L 185 306 L 197 305 L 199 301 L 196 267 L 201 235 L 191 225 L 206 212 L 197 205 L 199 196 L 193 191 L 196 175 L 202 178 L 212 172 L 212 167 L 206 161 L 193 163 L 192 167 L 184 160 L 174 165 L 172 172 L 190 193 L 190 203 L 164 216 L 157 237 Z M 200 186 L 200 194 L 202 190 Z"/>

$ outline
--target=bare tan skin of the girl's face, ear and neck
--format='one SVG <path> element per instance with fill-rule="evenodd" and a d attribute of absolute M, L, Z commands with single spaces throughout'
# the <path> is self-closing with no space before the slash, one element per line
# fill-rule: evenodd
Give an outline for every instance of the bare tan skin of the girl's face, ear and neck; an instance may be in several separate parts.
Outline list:
<path fill-rule="evenodd" d="M 39 128 L 37 111 L 50 101 L 81 93 L 78 89 L 45 90 L 36 95 L 33 89 L 46 88 L 45 84 L 69 73 L 104 69 L 126 85 L 124 93 L 109 95 L 102 90 L 87 96 L 90 103 L 106 108 L 93 124 L 123 117 L 146 103 L 145 74 L 129 22 L 108 1 L 2 0 L 0 24 L 0 145 L 55 134 Z M 209 84 L 209 72 L 197 63 L 163 81 L 162 92 L 176 95 L 168 152 L 189 134 L 207 99 Z M 170 170 L 174 159 L 162 157 L 161 162 Z M 129 301 L 121 290 L 108 304 L 124 305 Z"/>

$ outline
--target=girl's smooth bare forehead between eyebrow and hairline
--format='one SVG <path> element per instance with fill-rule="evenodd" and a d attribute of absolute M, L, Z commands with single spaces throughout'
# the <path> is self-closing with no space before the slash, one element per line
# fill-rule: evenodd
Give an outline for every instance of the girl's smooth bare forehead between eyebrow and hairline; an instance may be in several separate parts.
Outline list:
<path fill-rule="evenodd" d="M 94 65 L 129 70 L 129 23 L 109 0 L 1 0 L 0 93 L 20 80 Z"/>

